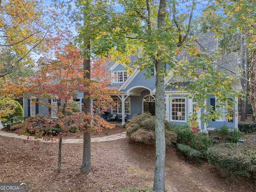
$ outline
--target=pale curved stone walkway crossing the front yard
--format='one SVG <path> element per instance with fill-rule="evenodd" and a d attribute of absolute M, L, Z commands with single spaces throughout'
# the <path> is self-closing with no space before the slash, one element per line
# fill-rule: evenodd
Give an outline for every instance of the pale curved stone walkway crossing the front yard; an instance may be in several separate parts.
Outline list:
<path fill-rule="evenodd" d="M 29 139 L 28 139 L 28 137 L 24 136 L 24 135 L 19 136 L 18 134 L 15 134 L 15 133 L 5 132 L 2 130 L 2 128 L 0 128 L 0 136 L 14 137 L 14 138 L 25 139 L 25 140 L 30 140 L 30 141 L 35 140 L 34 136 L 29 136 Z M 91 138 L 91 142 L 106 142 L 106 141 L 113 141 L 113 140 L 118 140 L 118 139 L 122 139 L 122 138 L 126 138 L 126 132 L 108 135 L 108 136 L 104 136 L 104 137 Z M 50 141 L 45 141 L 43 139 L 38 139 L 38 140 L 40 142 L 48 142 L 48 143 L 52 142 L 51 140 Z M 58 142 L 58 141 L 59 141 L 59 139 L 54 140 L 54 142 Z M 62 143 L 83 143 L 83 139 L 63 138 Z"/>

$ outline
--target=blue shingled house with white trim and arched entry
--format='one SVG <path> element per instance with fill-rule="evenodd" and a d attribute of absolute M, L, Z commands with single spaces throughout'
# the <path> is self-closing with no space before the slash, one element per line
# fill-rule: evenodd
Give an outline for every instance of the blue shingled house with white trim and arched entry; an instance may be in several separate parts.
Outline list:
<path fill-rule="evenodd" d="M 198 42 L 200 45 L 207 50 L 208 53 L 214 52 L 218 49 L 217 39 L 214 38 L 215 33 L 206 33 L 198 35 Z M 182 60 L 184 57 L 189 57 L 188 54 L 182 52 L 177 56 L 177 62 Z M 138 70 L 134 68 L 132 63 L 138 59 L 138 55 L 129 57 L 130 67 L 134 70 L 133 74 L 129 75 L 126 72 L 124 66 L 119 64 L 118 62 L 109 62 L 107 69 L 112 74 L 112 84 L 108 86 L 108 88 L 119 90 L 119 94 L 111 95 L 114 101 L 112 109 L 110 110 L 110 114 L 108 114 L 107 118 L 110 118 L 112 114 L 117 114 L 117 117 L 124 117 L 127 115 L 127 120 L 129 121 L 134 115 L 142 114 L 144 112 L 150 112 L 152 115 L 155 115 L 155 94 L 156 94 L 156 77 L 152 77 L 150 79 L 145 79 L 145 70 Z M 222 65 L 228 69 L 238 68 L 239 66 L 239 58 L 237 54 L 227 54 L 222 56 Z M 41 58 L 38 61 L 38 65 L 42 65 L 42 63 L 48 62 L 50 60 L 46 60 L 45 58 Z M 166 68 L 170 68 L 170 66 L 166 66 Z M 218 67 L 216 67 L 218 68 Z M 177 123 L 177 124 L 186 124 L 188 122 L 188 116 L 190 113 L 193 113 L 193 99 L 188 98 L 186 93 L 178 92 L 177 88 L 173 88 L 168 85 L 168 82 L 173 80 L 173 76 L 166 78 L 166 94 L 165 94 L 165 106 L 163 106 L 163 110 L 166 112 L 166 120 L 169 122 Z M 234 89 L 240 89 L 241 86 L 237 83 L 234 86 Z M 238 99 L 233 98 L 236 101 L 235 110 L 238 111 Z M 215 100 L 216 97 L 214 95 L 208 98 L 206 103 L 215 108 Z M 76 101 L 79 104 L 83 102 L 82 93 L 78 93 Z M 51 104 L 55 104 L 56 107 L 59 105 L 58 101 L 49 100 Z M 37 109 L 38 108 L 38 109 Z M 238 117 L 234 116 L 233 120 L 228 121 L 225 116 L 227 113 L 226 108 L 221 108 L 223 117 L 219 120 L 212 120 L 212 122 L 203 124 L 200 120 L 198 120 L 198 125 L 200 129 L 206 131 L 209 129 L 220 128 L 224 124 L 230 128 L 238 128 Z M 31 103 L 28 99 L 24 98 L 24 116 L 34 115 L 37 112 L 45 115 L 49 112 L 48 108 L 43 106 L 31 106 Z M 54 114 L 52 114 L 54 115 Z M 198 118 L 200 118 L 200 114 L 198 114 Z M 125 119 L 122 118 L 122 124 L 125 124 Z"/>

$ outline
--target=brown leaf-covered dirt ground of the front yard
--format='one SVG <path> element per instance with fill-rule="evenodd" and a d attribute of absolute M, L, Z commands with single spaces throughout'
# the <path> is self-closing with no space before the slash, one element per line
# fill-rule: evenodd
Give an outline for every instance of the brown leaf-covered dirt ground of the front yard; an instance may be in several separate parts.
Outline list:
<path fill-rule="evenodd" d="M 92 137 L 123 132 L 119 127 Z M 248 138 L 254 140 L 255 135 Z M 246 141 L 245 141 L 246 142 Z M 155 148 L 128 138 L 91 144 L 92 171 L 80 172 L 82 144 L 62 145 L 58 173 L 58 144 L 0 136 L 0 182 L 29 182 L 30 192 L 118 192 L 125 187 L 153 186 Z M 187 162 L 174 148 L 166 149 L 165 184 L 168 192 L 255 192 L 254 180 L 225 183 L 208 164 Z"/>

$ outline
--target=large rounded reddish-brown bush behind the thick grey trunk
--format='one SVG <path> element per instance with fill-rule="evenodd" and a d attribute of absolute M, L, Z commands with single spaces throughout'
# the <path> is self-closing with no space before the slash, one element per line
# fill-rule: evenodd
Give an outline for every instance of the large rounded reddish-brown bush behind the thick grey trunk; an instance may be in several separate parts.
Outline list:
<path fill-rule="evenodd" d="M 136 142 L 153 145 L 156 142 L 155 116 L 150 113 L 134 116 L 127 124 L 126 136 Z M 164 121 L 166 145 L 171 146 L 176 143 L 176 133 L 171 130 L 170 123 Z"/>

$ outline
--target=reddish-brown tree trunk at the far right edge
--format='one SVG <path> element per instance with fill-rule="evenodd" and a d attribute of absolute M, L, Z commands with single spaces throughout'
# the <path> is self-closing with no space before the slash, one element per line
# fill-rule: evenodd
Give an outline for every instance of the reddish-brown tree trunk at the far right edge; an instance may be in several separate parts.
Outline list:
<path fill-rule="evenodd" d="M 251 103 L 253 116 L 256 118 L 256 50 L 252 52 L 251 64 Z"/>

